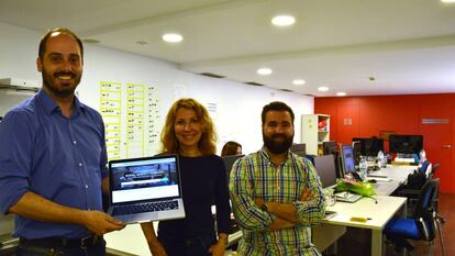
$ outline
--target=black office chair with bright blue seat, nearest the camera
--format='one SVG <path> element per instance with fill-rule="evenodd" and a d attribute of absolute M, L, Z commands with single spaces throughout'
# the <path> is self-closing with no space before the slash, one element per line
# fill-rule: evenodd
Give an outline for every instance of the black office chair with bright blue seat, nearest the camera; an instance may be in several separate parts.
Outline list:
<path fill-rule="evenodd" d="M 437 197 L 440 180 L 428 181 L 419 196 L 419 202 L 414 209 L 413 218 L 397 218 L 387 223 L 384 233 L 387 240 L 395 244 L 396 252 L 407 248 L 412 251 L 413 246 L 408 240 L 434 242 L 436 230 L 440 234 L 441 247 L 445 256 L 444 242 L 441 230 L 441 220 L 434 210 L 434 199 Z"/>

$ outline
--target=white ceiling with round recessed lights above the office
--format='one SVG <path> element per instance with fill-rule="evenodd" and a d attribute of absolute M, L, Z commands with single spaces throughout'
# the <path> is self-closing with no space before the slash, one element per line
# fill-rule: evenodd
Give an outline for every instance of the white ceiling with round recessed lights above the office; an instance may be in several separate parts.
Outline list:
<path fill-rule="evenodd" d="M 282 13 L 296 24 L 273 26 Z M 67 26 L 182 70 L 302 94 L 455 92 L 455 3 L 439 0 L 1 0 L 0 22 Z M 166 44 L 165 32 L 185 40 Z M 274 73 L 256 75 L 259 67 Z"/>

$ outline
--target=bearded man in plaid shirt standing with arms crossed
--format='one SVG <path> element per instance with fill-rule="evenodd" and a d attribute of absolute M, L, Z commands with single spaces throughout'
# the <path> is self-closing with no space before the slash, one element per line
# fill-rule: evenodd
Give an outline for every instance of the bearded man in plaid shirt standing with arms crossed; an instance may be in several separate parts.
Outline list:
<path fill-rule="evenodd" d="M 232 209 L 243 231 L 243 256 L 321 255 L 311 243 L 310 226 L 323 220 L 325 198 L 313 165 L 289 151 L 293 119 L 284 102 L 265 105 L 263 148 L 232 168 Z"/>

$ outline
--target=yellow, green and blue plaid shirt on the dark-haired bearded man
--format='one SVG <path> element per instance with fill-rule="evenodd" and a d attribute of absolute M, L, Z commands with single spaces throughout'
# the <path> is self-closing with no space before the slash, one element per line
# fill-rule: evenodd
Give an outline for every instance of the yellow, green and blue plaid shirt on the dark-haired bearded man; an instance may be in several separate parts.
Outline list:
<path fill-rule="evenodd" d="M 298 201 L 306 188 L 314 197 L 310 201 Z M 286 162 L 276 166 L 263 148 L 235 162 L 230 191 L 233 212 L 243 231 L 238 244 L 241 255 L 321 255 L 311 243 L 311 225 L 322 221 L 325 199 L 321 181 L 308 159 L 288 153 Z M 299 224 L 270 231 L 268 225 L 276 216 L 257 208 L 255 198 L 295 203 Z"/>

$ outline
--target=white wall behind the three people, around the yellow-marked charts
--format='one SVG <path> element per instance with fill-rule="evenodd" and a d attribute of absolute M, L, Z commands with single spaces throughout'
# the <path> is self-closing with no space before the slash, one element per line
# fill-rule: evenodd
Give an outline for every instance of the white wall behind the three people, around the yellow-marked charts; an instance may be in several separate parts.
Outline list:
<path fill-rule="evenodd" d="M 41 84 L 41 74 L 35 67 L 41 32 L 0 23 L 0 78 L 33 79 Z M 101 80 L 157 87 L 162 119 L 177 98 L 192 97 L 203 103 L 217 103 L 219 152 L 230 140 L 240 142 L 245 153 L 257 151 L 262 146 L 262 107 L 273 100 L 285 101 L 296 112 L 295 142 L 300 142 L 300 115 L 313 113 L 312 97 L 208 78 L 178 70 L 170 63 L 86 44 L 84 76 L 78 90 L 82 102 L 96 109 L 99 109 Z M 0 102 L 0 111 L 2 105 L 4 108 L 4 100 Z"/>

